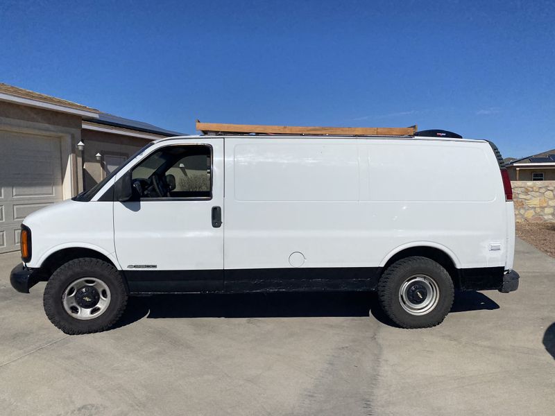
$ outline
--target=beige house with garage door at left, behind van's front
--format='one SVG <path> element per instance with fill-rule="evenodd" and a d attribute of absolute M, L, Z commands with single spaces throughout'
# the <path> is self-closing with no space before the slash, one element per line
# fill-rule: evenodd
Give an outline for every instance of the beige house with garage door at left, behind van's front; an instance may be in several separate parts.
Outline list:
<path fill-rule="evenodd" d="M 0 83 L 0 253 L 19 250 L 28 214 L 94 186 L 148 141 L 177 135 Z"/>

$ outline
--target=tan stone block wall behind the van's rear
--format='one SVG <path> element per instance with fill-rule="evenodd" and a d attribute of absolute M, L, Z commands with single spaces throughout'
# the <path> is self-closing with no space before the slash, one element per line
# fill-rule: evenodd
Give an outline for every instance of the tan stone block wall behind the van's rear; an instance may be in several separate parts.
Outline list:
<path fill-rule="evenodd" d="M 517 222 L 555 223 L 555 180 L 511 184 Z"/>

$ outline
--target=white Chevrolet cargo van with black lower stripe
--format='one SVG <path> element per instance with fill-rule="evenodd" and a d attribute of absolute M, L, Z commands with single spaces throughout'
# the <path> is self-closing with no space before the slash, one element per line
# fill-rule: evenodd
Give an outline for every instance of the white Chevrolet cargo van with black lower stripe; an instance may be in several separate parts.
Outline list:
<path fill-rule="evenodd" d="M 130 295 L 377 291 L 404 328 L 456 290 L 518 288 L 501 155 L 484 140 L 187 136 L 28 216 L 11 275 L 65 333 L 110 327 Z"/>

